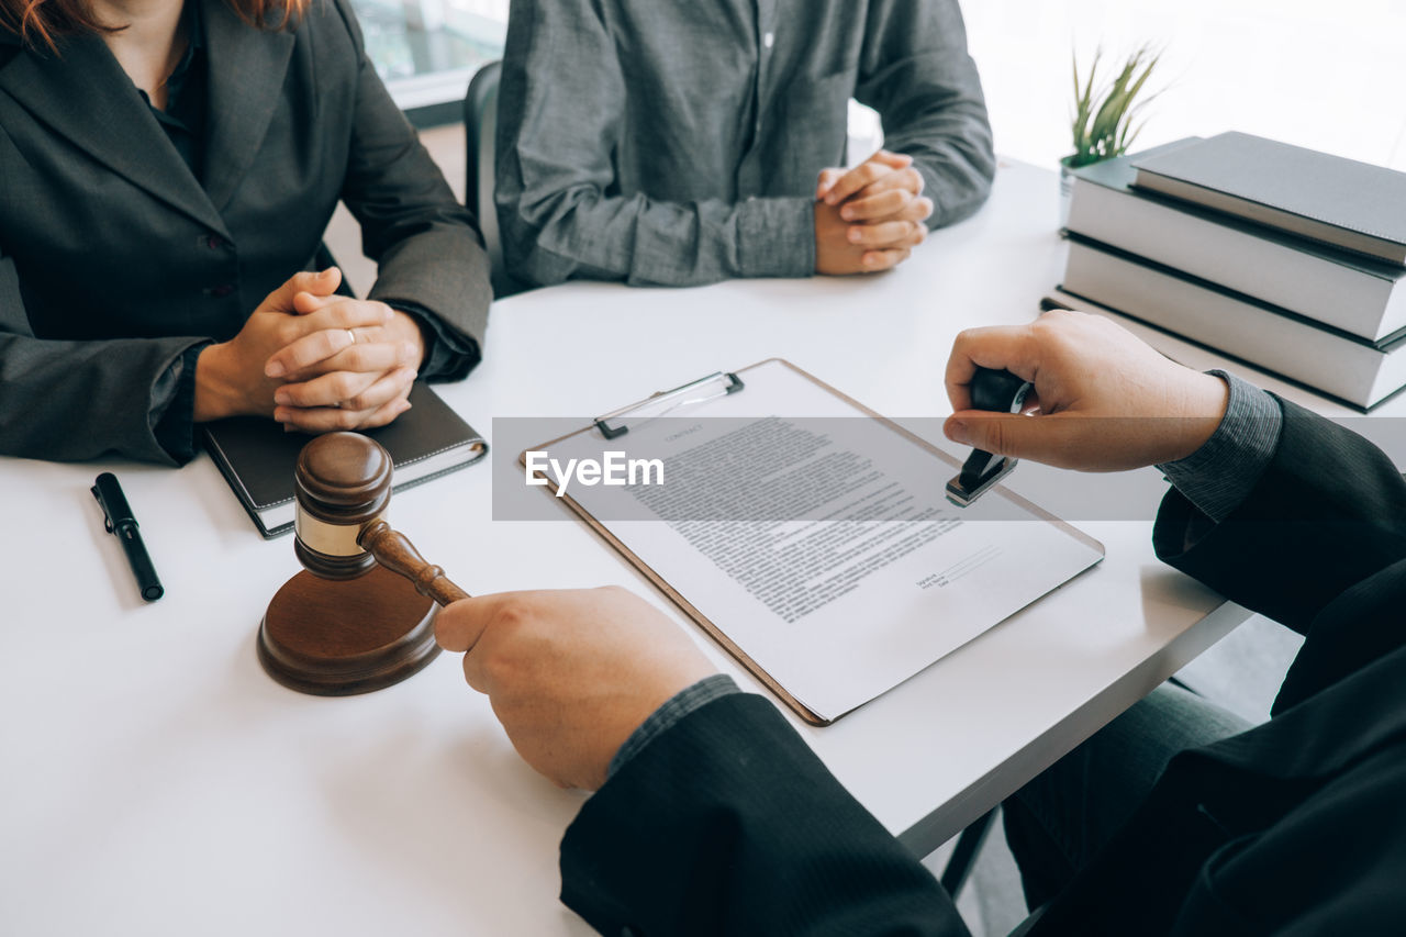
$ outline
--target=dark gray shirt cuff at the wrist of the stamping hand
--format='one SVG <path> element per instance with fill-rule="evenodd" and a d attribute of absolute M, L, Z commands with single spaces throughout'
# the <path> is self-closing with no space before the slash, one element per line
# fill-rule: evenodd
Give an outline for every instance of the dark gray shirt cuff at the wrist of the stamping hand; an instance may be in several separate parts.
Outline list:
<path fill-rule="evenodd" d="M 1230 387 L 1225 418 L 1201 449 L 1157 467 L 1187 501 L 1219 523 L 1240 506 L 1274 459 L 1284 412 L 1258 387 L 1222 370 L 1206 373 Z"/>

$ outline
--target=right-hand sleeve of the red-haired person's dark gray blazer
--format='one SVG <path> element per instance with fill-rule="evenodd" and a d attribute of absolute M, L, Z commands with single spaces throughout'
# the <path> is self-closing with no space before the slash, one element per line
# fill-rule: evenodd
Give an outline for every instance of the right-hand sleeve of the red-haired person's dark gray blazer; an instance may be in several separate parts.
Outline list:
<path fill-rule="evenodd" d="M 422 376 L 458 380 L 481 357 L 494 300 L 488 253 L 472 212 L 454 198 L 367 59 L 344 0 L 337 10 L 357 53 L 356 115 L 342 200 L 361 225 L 363 252 L 380 264 L 370 298 L 427 319 L 433 342 Z"/>

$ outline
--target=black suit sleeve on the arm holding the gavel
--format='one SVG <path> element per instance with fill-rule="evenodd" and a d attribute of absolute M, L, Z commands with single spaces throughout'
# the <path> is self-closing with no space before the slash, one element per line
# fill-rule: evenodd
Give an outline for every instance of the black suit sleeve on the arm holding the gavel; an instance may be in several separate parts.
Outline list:
<path fill-rule="evenodd" d="M 918 860 L 748 694 L 616 772 L 567 830 L 561 879 L 606 934 L 967 934 Z"/>

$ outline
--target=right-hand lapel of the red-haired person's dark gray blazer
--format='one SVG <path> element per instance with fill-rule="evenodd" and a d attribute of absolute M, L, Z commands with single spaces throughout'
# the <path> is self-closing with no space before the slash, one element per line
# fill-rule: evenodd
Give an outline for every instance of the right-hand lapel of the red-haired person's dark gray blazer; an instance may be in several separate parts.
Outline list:
<path fill-rule="evenodd" d="M 191 1 L 204 3 L 209 56 L 205 191 L 215 208 L 224 210 L 253 165 L 278 107 L 294 38 L 250 27 L 222 0 Z"/>

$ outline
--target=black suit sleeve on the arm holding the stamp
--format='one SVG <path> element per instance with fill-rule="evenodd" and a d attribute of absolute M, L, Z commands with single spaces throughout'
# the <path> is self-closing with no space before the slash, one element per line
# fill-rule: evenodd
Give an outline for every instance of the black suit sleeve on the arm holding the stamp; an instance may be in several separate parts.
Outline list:
<path fill-rule="evenodd" d="M 1171 491 L 1153 537 L 1171 566 L 1306 633 L 1329 604 L 1406 557 L 1406 481 L 1357 433 L 1278 402 L 1274 459 L 1240 506 L 1209 525 Z"/>

